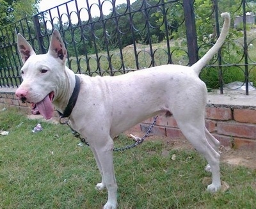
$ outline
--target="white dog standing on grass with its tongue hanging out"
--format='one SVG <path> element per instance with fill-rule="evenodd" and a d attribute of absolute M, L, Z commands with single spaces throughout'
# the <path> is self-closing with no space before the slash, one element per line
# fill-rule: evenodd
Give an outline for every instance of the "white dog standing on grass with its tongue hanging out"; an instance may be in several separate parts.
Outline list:
<path fill-rule="evenodd" d="M 168 116 L 172 112 L 182 133 L 211 167 L 212 183 L 207 190 L 220 189 L 219 142 L 205 128 L 207 89 L 198 74 L 227 36 L 230 15 L 221 16 L 225 22 L 220 38 L 194 65 L 156 66 L 116 77 L 75 75 L 66 66 L 67 50 L 57 30 L 52 33 L 47 54 L 40 55 L 18 35 L 24 66 L 16 95 L 22 102 L 36 104 L 46 119 L 53 116 L 55 107 L 74 130 L 86 137 L 102 176 L 96 187 L 108 189 L 104 209 L 118 205 L 113 137 L 157 114 Z"/>

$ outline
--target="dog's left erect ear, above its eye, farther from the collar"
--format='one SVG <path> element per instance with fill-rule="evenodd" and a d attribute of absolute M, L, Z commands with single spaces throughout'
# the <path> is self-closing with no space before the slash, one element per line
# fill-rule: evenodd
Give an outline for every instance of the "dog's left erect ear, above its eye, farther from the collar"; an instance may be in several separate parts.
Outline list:
<path fill-rule="evenodd" d="M 36 54 L 31 45 L 26 41 L 26 39 L 22 35 L 20 35 L 20 33 L 18 33 L 17 35 L 17 45 L 23 64 L 26 63 L 27 59 L 31 55 Z"/>

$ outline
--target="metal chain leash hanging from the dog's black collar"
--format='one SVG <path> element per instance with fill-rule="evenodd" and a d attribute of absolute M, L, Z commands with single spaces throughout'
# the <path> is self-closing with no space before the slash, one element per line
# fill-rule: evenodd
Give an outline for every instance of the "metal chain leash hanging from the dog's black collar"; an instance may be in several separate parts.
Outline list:
<path fill-rule="evenodd" d="M 148 130 L 147 130 L 146 134 L 143 135 L 143 137 L 141 137 L 141 138 L 136 137 L 137 140 L 136 140 L 135 143 L 124 146 L 122 148 L 113 148 L 113 151 L 129 150 L 129 149 L 134 148 L 134 147 L 140 145 L 141 143 L 143 143 L 143 141 L 148 137 L 150 132 L 152 132 L 152 128 L 154 127 L 154 125 L 156 125 L 157 118 L 158 118 L 158 116 L 154 117 L 154 121 L 151 123 L 150 127 L 148 127 Z M 68 127 L 72 130 L 72 134 L 75 137 L 79 138 L 82 143 L 86 144 L 87 146 L 90 146 L 90 144 L 86 141 L 86 139 L 82 138 L 81 135 L 76 130 L 74 130 L 72 127 L 70 127 L 70 125 L 68 124 L 68 120 L 62 121 L 61 119 L 63 119 L 63 118 L 60 118 L 60 123 L 61 124 L 67 124 Z"/>

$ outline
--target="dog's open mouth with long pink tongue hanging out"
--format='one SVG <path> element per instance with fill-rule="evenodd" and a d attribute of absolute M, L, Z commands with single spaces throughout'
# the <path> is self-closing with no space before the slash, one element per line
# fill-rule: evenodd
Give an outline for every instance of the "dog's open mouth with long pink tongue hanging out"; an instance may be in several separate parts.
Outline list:
<path fill-rule="evenodd" d="M 33 104 L 32 114 L 41 114 L 45 119 L 51 119 L 54 114 L 53 98 L 54 92 L 52 91 L 41 102 Z"/>

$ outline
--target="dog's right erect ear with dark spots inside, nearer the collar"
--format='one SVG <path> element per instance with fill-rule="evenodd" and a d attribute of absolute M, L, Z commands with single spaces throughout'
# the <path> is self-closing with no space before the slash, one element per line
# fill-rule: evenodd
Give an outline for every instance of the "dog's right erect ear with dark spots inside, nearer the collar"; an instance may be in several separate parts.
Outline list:
<path fill-rule="evenodd" d="M 62 61 L 65 61 L 67 58 L 67 49 L 65 48 L 60 32 L 57 29 L 54 29 L 52 32 L 48 54 L 54 58 L 60 58 Z"/>

